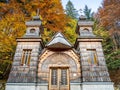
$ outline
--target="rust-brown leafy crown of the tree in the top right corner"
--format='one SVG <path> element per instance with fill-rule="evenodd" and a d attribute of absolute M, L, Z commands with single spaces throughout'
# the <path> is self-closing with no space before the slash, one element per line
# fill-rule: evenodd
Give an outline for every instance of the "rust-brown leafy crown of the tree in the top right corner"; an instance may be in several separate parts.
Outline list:
<path fill-rule="evenodd" d="M 100 25 L 107 30 L 116 27 L 115 22 L 120 20 L 120 1 L 104 0 L 103 7 L 99 10 Z"/>

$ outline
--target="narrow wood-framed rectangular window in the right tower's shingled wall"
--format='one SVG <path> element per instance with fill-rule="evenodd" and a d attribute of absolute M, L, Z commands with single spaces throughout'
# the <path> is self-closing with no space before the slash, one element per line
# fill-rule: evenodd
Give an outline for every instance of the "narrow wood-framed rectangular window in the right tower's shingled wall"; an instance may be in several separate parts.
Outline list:
<path fill-rule="evenodd" d="M 88 62 L 92 65 L 98 65 L 97 53 L 95 49 L 88 49 Z"/>

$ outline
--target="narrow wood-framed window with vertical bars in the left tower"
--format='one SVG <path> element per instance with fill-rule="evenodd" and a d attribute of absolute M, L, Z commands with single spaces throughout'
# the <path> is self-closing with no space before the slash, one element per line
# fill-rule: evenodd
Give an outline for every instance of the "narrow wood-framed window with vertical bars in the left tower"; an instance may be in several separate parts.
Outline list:
<path fill-rule="evenodd" d="M 31 49 L 23 50 L 21 65 L 30 65 L 31 51 Z"/>

